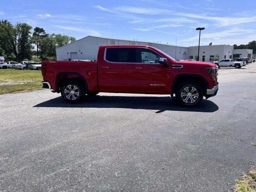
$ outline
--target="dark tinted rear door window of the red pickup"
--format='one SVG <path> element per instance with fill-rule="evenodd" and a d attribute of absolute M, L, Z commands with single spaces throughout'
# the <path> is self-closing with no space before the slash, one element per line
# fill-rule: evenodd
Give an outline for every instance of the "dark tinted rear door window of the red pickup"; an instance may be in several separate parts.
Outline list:
<path fill-rule="evenodd" d="M 107 48 L 106 60 L 117 63 L 134 63 L 134 48 Z"/>

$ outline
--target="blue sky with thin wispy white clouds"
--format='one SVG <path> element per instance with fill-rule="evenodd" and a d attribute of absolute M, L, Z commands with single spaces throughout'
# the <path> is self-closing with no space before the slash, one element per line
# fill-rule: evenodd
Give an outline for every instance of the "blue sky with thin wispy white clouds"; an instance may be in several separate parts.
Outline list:
<path fill-rule="evenodd" d="M 3 3 L 4 2 L 4 3 Z M 254 0 L 8 0 L 0 19 L 27 22 L 48 33 L 193 46 L 256 40 Z"/>

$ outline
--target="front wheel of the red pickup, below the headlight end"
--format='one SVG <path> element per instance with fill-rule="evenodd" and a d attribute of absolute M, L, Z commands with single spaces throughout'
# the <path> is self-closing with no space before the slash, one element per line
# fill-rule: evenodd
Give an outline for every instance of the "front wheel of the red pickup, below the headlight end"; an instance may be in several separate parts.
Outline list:
<path fill-rule="evenodd" d="M 193 90 L 193 88 L 195 90 Z M 184 96 L 182 96 L 182 94 L 184 94 Z M 197 96 L 193 96 L 193 94 Z M 175 98 L 182 106 L 197 106 L 198 104 L 200 104 L 200 102 L 202 102 L 203 97 L 204 93 L 202 87 L 198 83 L 193 81 L 188 81 L 180 84 L 175 91 Z"/>

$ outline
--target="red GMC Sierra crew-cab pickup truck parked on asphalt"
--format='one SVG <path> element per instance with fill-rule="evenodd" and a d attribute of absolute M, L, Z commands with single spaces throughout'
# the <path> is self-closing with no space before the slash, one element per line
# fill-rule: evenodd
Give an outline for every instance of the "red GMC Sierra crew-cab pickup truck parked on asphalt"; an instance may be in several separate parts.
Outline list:
<path fill-rule="evenodd" d="M 216 64 L 175 60 L 151 46 L 100 46 L 97 61 L 43 61 L 43 88 L 68 103 L 99 92 L 170 94 L 184 106 L 218 91 Z"/>

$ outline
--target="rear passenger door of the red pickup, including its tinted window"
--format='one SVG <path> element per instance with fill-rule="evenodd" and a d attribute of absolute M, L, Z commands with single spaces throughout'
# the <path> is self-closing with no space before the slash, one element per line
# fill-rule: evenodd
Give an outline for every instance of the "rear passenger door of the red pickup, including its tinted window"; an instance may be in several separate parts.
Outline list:
<path fill-rule="evenodd" d="M 134 61 L 133 48 L 105 48 L 104 59 L 99 63 L 100 91 L 131 92 Z"/>

